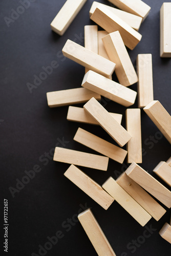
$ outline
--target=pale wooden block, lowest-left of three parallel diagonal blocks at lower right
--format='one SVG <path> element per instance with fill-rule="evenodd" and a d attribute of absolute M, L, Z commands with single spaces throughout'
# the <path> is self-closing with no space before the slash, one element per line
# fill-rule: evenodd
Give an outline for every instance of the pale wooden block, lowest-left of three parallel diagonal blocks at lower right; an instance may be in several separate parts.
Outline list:
<path fill-rule="evenodd" d="M 106 190 L 141 226 L 152 218 L 126 191 L 110 177 L 102 188 Z"/>

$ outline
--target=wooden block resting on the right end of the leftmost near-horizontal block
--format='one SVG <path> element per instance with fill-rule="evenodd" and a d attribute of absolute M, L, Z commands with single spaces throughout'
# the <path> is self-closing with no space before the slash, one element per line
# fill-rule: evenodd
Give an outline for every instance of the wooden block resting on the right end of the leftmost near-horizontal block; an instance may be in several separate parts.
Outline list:
<path fill-rule="evenodd" d="M 83 78 L 82 87 L 109 98 L 123 106 L 131 106 L 135 103 L 137 92 L 121 86 L 93 71 L 89 71 Z"/>

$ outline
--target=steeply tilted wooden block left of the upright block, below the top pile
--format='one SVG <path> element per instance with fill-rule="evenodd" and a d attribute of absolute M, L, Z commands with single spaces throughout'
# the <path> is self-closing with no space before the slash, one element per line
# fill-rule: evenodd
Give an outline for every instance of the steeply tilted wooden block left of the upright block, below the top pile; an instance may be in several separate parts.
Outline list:
<path fill-rule="evenodd" d="M 133 63 L 119 31 L 110 33 L 102 38 L 110 60 L 116 63 L 115 73 L 122 86 L 131 86 L 138 81 Z"/>

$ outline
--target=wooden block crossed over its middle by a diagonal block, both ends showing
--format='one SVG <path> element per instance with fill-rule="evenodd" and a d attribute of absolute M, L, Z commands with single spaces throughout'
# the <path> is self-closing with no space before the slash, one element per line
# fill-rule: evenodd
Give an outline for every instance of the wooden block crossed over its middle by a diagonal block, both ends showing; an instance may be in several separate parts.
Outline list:
<path fill-rule="evenodd" d="M 115 118 L 115 120 L 121 124 L 122 121 L 122 115 L 121 114 L 115 114 L 111 113 L 111 116 Z M 67 114 L 67 120 L 73 121 L 73 122 L 80 122 L 80 123 L 89 123 L 89 124 L 96 124 L 99 125 L 99 123 L 89 115 L 89 113 L 84 110 L 83 108 L 78 108 L 77 106 L 69 106 L 68 108 L 68 114 Z"/>

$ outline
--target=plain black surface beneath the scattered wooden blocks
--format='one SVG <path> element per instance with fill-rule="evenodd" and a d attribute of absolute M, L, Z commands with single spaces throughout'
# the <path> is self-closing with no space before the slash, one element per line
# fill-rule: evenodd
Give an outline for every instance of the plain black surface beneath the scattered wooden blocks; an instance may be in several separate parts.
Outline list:
<path fill-rule="evenodd" d="M 99 2 L 112 5 L 108 1 Z M 163 1 L 146 0 L 145 2 L 152 7 L 152 10 L 140 28 L 142 40 L 133 51 L 129 50 L 129 54 L 134 65 L 136 65 L 137 54 L 153 54 L 154 99 L 159 100 L 171 113 L 171 62 L 170 59 L 162 59 L 159 56 L 159 10 Z M 16 10 L 21 4 L 14 0 L 1 0 L 0 4 L 2 191 L 0 222 L 3 230 L 5 198 L 9 204 L 8 255 L 27 256 L 32 255 L 33 252 L 38 254 L 39 245 L 44 246 L 48 242 L 47 237 L 55 236 L 58 230 L 62 231 L 63 237 L 46 255 L 97 255 L 76 219 L 72 227 L 62 227 L 62 223 L 68 218 L 76 216 L 80 204 L 92 207 L 93 214 L 117 256 L 170 255 L 170 244 L 158 233 L 164 223 L 169 222 L 170 209 L 167 209 L 167 213 L 160 221 L 156 222 L 152 219 L 147 223 L 148 227 L 152 225 L 156 231 L 133 253 L 133 249 L 127 248 L 127 245 L 133 239 L 137 240 L 142 236 L 145 228 L 141 227 L 117 202 L 105 211 L 84 194 L 63 176 L 69 167 L 68 164 L 39 159 L 40 157 L 45 159 L 45 153 L 49 153 L 56 143 L 62 140 L 67 142 L 64 143 L 65 145 L 60 143 L 59 146 L 95 153 L 73 141 L 79 126 L 112 142 L 110 136 L 101 127 L 67 121 L 68 106 L 50 109 L 47 105 L 47 92 L 81 86 L 84 68 L 63 58 L 61 49 L 68 38 L 71 40 L 77 38 L 76 42 L 83 45 L 84 25 L 94 24 L 89 19 L 89 10 L 93 1 L 88 0 L 63 36 L 60 37 L 52 32 L 50 23 L 64 3 L 65 0 L 36 0 L 23 14 L 19 15 L 14 23 L 10 23 L 9 27 L 4 17 L 10 17 L 12 9 Z M 54 69 L 53 73 L 30 93 L 27 83 L 33 83 L 34 75 L 39 76 L 43 71 L 42 67 L 49 66 L 53 60 L 58 62 L 58 68 Z M 117 81 L 115 75 L 113 79 Z M 130 88 L 136 90 L 136 85 Z M 125 125 L 123 106 L 112 101 L 107 104 L 102 103 L 106 110 L 123 114 L 122 125 Z M 137 108 L 137 101 L 131 108 Z M 153 168 L 159 161 L 166 161 L 170 157 L 170 144 L 164 137 L 161 138 L 157 127 L 148 116 L 143 111 L 141 114 L 144 149 L 141 166 L 152 174 Z M 155 142 L 150 136 L 157 137 Z M 26 175 L 25 170 L 32 170 L 36 164 L 40 166 L 41 171 L 36 173 L 23 189 L 18 190 L 13 198 L 9 187 L 16 188 L 16 179 L 21 181 Z M 116 178 L 118 173 L 125 170 L 125 166 L 126 161 L 124 164 L 119 164 L 110 159 L 108 172 L 89 168 L 81 169 L 101 185 L 109 176 Z M 66 222 L 63 224 L 65 225 Z M 2 248 L 3 232 L 1 238 Z"/>

